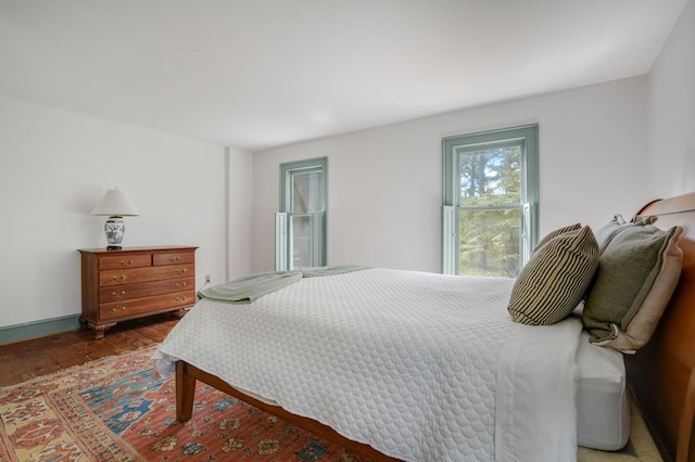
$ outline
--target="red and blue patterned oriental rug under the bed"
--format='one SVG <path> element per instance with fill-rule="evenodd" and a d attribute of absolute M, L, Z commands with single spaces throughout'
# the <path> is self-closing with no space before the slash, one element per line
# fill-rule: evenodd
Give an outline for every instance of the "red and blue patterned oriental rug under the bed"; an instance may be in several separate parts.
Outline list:
<path fill-rule="evenodd" d="M 201 383 L 178 423 L 154 348 L 0 388 L 0 461 L 362 461 Z"/>

